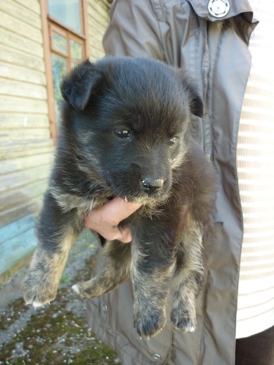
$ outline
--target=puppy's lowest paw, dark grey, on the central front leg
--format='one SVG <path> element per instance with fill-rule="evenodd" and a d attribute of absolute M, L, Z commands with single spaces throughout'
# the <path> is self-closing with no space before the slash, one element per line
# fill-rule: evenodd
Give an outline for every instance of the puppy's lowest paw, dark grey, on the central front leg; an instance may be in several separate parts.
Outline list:
<path fill-rule="evenodd" d="M 134 327 L 141 338 L 150 338 L 162 331 L 166 323 L 166 314 L 164 311 L 154 309 L 145 309 L 134 314 Z"/>

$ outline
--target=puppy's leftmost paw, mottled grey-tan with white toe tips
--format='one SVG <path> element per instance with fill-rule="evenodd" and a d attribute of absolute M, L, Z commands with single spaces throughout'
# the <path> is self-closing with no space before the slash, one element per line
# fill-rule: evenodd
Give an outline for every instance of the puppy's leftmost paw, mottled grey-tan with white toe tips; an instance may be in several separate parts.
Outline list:
<path fill-rule="evenodd" d="M 32 304 L 35 308 L 50 303 L 55 299 L 57 289 L 58 283 L 56 284 L 56 278 L 51 280 L 50 275 L 44 277 L 37 273 L 37 271 L 30 271 L 21 285 L 25 303 Z"/>

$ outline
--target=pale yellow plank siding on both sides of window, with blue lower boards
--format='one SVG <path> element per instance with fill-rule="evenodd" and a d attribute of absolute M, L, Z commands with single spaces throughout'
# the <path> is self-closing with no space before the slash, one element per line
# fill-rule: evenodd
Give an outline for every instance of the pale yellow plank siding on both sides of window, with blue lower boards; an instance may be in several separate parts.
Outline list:
<path fill-rule="evenodd" d="M 46 0 L 41 0 L 46 1 Z M 109 7 L 86 0 L 90 59 L 102 58 Z M 0 283 L 37 245 L 54 159 L 39 0 L 0 1 Z M 27 258 L 27 259 L 26 259 Z M 25 261 L 24 261 L 25 260 Z"/>

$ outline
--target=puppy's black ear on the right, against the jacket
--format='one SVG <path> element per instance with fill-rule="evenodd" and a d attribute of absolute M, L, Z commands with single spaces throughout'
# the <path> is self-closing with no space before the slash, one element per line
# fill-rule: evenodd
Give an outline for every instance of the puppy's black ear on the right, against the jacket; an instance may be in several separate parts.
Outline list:
<path fill-rule="evenodd" d="M 183 83 L 185 91 L 189 95 L 191 114 L 196 115 L 196 117 L 202 118 L 204 116 L 204 105 L 202 103 L 202 98 L 197 92 L 195 83 L 187 76 L 186 72 L 183 71 L 183 69 L 178 69 L 178 75 Z"/>

